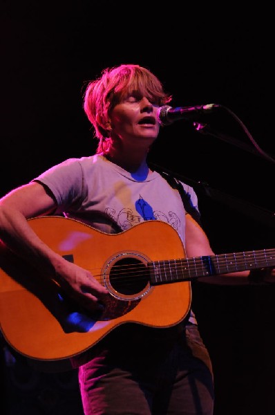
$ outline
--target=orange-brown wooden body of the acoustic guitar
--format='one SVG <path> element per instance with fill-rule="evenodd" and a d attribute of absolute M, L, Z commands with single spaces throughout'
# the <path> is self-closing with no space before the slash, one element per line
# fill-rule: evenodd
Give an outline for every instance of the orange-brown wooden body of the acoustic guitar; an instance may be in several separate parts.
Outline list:
<path fill-rule="evenodd" d="M 2 243 L 0 326 L 8 344 L 23 356 L 66 359 L 90 349 L 120 324 L 163 328 L 187 315 L 190 282 L 153 286 L 146 268 L 149 261 L 185 256 L 168 223 L 146 221 L 120 234 L 105 234 L 61 216 L 41 216 L 29 224 L 55 252 L 90 270 L 110 295 L 101 315 L 88 315 L 54 279 L 41 277 Z"/>

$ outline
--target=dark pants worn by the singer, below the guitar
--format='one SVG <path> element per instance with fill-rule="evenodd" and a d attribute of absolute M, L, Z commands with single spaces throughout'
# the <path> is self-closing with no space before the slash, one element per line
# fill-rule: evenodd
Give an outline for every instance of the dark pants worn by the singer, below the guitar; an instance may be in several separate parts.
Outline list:
<path fill-rule="evenodd" d="M 115 331 L 122 333 L 79 367 L 85 415 L 213 414 L 211 361 L 196 325 L 176 335 L 140 326 Z"/>

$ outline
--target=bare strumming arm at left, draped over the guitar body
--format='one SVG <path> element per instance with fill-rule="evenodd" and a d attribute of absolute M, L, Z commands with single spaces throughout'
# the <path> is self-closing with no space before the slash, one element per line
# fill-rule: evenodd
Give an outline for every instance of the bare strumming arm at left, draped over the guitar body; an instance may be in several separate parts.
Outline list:
<path fill-rule="evenodd" d="M 49 214 L 55 198 L 39 183 L 29 183 L 0 199 L 0 238 L 11 250 L 57 282 L 82 306 L 95 310 L 107 293 L 87 270 L 50 249 L 28 225 L 28 219 Z"/>

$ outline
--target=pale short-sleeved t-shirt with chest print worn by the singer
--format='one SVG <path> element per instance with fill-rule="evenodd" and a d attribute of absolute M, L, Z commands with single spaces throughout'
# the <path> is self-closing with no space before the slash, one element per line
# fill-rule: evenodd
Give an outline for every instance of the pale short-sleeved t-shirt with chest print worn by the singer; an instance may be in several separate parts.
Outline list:
<path fill-rule="evenodd" d="M 143 221 L 169 223 L 185 246 L 184 205 L 178 190 L 158 173 L 137 180 L 104 156 L 70 158 L 35 178 L 57 201 L 56 214 L 77 219 L 105 233 L 128 230 Z M 182 183 L 197 208 L 193 187 Z M 196 323 L 191 312 L 190 322 Z"/>

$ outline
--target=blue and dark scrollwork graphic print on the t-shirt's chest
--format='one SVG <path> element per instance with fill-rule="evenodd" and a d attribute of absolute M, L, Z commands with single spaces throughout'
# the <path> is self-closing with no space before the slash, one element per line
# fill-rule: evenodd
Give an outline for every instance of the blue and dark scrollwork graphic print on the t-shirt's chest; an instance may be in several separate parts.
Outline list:
<path fill-rule="evenodd" d="M 121 230 L 132 228 L 143 221 L 164 221 L 176 230 L 180 228 L 180 219 L 176 213 L 168 212 L 168 214 L 165 214 L 160 210 L 153 211 L 151 205 L 142 196 L 135 202 L 135 208 L 136 211 L 132 208 L 123 208 L 117 213 L 113 208 L 106 208 L 105 213 L 119 225 Z"/>

